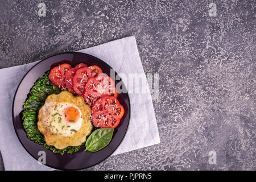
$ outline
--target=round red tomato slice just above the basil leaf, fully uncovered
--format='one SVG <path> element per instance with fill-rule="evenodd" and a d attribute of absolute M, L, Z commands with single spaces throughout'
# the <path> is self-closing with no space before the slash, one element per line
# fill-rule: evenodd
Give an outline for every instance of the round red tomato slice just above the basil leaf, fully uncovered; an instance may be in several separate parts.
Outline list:
<path fill-rule="evenodd" d="M 95 127 L 115 128 L 119 125 L 125 109 L 114 96 L 99 98 L 92 107 L 91 120 Z"/>

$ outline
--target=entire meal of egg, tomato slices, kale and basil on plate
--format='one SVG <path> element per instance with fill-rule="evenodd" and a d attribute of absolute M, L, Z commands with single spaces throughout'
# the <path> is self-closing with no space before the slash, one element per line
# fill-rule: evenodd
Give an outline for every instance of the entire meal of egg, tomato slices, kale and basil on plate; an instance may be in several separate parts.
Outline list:
<path fill-rule="evenodd" d="M 23 105 L 28 138 L 60 154 L 79 151 L 85 141 L 85 151 L 106 147 L 125 110 L 114 81 L 101 73 L 96 65 L 61 64 L 39 78 Z M 93 126 L 101 129 L 91 133 Z"/>

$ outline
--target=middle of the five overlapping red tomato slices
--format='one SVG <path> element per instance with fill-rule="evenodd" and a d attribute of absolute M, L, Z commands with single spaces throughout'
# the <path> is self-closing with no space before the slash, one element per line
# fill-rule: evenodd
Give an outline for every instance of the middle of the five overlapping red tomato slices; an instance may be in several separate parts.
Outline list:
<path fill-rule="evenodd" d="M 73 89 L 77 95 L 82 96 L 84 93 L 84 86 L 90 77 L 96 77 L 103 73 L 100 67 L 96 65 L 80 68 L 76 71 L 76 74 L 73 78 Z"/>

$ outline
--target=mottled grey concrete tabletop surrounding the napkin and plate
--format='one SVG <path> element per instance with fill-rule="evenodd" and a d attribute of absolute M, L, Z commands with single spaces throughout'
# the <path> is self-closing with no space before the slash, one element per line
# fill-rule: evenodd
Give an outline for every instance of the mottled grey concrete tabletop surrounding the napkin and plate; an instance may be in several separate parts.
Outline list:
<path fill-rule="evenodd" d="M 256 169 L 255 1 L 0 0 L 0 12 L 0 68 L 135 35 L 144 71 L 159 73 L 161 143 L 89 170 Z"/>

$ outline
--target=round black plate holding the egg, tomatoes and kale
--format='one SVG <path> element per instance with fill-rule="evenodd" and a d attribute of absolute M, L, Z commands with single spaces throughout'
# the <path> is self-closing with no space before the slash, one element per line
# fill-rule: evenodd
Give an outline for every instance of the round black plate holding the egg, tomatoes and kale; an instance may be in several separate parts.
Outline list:
<path fill-rule="evenodd" d="M 43 147 L 43 145 L 37 144 L 28 139 L 26 131 L 22 126 L 23 121 L 20 113 L 23 110 L 22 106 L 24 101 L 26 101 L 27 94 L 34 85 L 34 82 L 38 80 L 39 77 L 43 77 L 46 71 L 60 63 L 69 63 L 72 65 L 72 67 L 79 63 L 97 65 L 102 69 L 104 73 L 108 74 L 109 76 L 110 69 L 113 69 L 97 57 L 77 52 L 61 53 L 59 55 L 51 56 L 45 60 L 40 61 L 23 77 L 16 90 L 13 101 L 13 125 L 20 143 L 22 143 L 27 152 L 36 160 L 38 160 L 40 157 L 38 152 L 45 151 L 46 165 L 49 167 L 56 169 L 84 169 L 100 163 L 108 158 L 108 156 L 110 156 L 122 142 L 130 121 L 130 100 L 127 93 L 118 94 L 117 98 L 120 104 L 125 108 L 125 114 L 123 115 L 119 125 L 115 128 L 111 142 L 102 150 L 97 152 L 84 152 L 85 146 L 82 146 L 78 152 L 73 154 L 65 153 L 63 155 L 53 153 L 51 150 L 47 150 Z M 116 72 L 115 75 L 117 75 Z M 119 81 L 122 80 L 115 81 L 115 84 L 117 84 Z"/>

